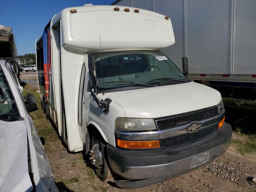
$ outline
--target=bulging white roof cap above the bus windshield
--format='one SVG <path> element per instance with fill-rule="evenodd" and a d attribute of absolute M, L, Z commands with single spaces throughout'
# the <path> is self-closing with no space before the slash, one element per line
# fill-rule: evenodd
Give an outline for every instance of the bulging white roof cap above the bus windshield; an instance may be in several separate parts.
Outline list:
<path fill-rule="evenodd" d="M 100 44 L 101 50 L 162 49 L 175 42 L 168 17 L 140 8 L 65 8 L 52 18 L 51 25 L 60 19 L 62 46 L 69 52 L 100 51 Z"/>

